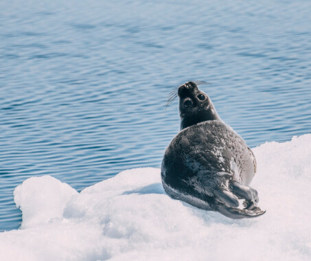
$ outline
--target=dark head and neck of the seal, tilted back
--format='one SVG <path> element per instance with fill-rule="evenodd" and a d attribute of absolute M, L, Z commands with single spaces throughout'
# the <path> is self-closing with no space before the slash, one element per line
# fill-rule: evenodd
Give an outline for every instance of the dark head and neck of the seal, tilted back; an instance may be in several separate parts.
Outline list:
<path fill-rule="evenodd" d="M 198 89 L 195 82 L 186 82 L 178 88 L 181 130 L 199 122 L 220 120 L 209 96 Z"/>

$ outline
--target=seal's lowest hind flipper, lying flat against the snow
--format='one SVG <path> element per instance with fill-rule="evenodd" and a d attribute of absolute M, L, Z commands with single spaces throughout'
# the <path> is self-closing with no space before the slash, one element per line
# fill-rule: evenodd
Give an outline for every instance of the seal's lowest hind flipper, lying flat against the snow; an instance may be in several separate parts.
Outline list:
<path fill-rule="evenodd" d="M 266 210 L 261 210 L 259 207 L 255 209 L 238 209 L 233 207 L 227 207 L 225 205 L 218 205 L 218 212 L 228 218 L 241 219 L 241 218 L 255 218 L 266 213 Z"/>

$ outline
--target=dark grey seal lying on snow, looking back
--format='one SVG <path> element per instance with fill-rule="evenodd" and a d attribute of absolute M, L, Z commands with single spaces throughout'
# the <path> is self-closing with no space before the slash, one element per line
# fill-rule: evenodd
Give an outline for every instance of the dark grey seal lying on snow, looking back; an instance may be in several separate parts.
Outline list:
<path fill-rule="evenodd" d="M 177 95 L 181 131 L 166 148 L 161 165 L 166 194 L 229 218 L 264 214 L 257 206 L 257 191 L 249 187 L 256 172 L 251 149 L 220 119 L 195 82 L 178 87 Z"/>

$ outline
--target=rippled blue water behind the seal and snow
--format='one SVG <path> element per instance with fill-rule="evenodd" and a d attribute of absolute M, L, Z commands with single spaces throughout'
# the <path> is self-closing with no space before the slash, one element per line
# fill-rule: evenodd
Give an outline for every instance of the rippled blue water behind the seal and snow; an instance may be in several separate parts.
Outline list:
<path fill-rule="evenodd" d="M 1 1 L 0 230 L 14 188 L 159 167 L 172 88 L 202 86 L 251 147 L 311 132 L 311 1 Z"/>

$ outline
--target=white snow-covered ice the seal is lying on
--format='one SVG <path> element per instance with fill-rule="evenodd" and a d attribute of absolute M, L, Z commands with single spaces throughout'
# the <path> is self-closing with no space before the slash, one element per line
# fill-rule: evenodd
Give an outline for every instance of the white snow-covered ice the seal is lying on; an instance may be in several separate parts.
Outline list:
<path fill-rule="evenodd" d="M 165 195 L 138 168 L 78 193 L 50 176 L 14 191 L 21 229 L 0 234 L 0 260 L 310 260 L 311 135 L 253 149 L 252 186 L 267 212 L 231 220 Z"/>

